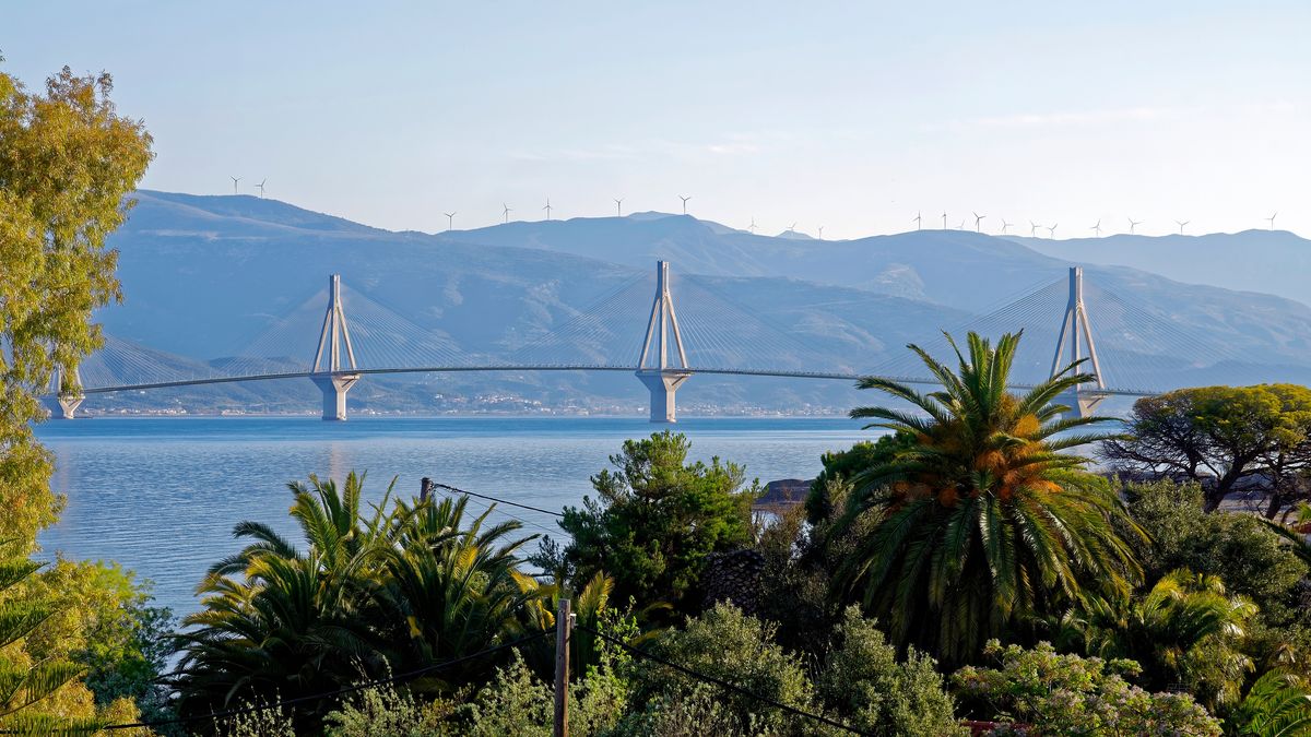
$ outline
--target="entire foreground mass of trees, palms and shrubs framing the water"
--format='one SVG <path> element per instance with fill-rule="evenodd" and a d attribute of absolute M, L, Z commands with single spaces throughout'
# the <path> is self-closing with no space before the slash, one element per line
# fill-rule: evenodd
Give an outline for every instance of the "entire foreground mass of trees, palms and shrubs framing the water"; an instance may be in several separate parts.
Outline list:
<path fill-rule="evenodd" d="M 863 380 L 894 404 L 852 416 L 889 433 L 776 518 L 658 433 L 536 552 L 463 496 L 309 476 L 302 539 L 239 525 L 184 629 L 111 564 L 35 563 L 60 509 L 37 396 L 56 368 L 77 391 L 151 157 L 109 92 L 0 75 L 0 730 L 547 734 L 568 597 L 577 734 L 1311 734 L 1311 547 L 1282 526 L 1311 514 L 1311 391 L 1171 392 L 1103 435 L 1061 404 L 1079 365 L 1008 391 L 1009 334 L 911 346 L 928 393 Z"/>

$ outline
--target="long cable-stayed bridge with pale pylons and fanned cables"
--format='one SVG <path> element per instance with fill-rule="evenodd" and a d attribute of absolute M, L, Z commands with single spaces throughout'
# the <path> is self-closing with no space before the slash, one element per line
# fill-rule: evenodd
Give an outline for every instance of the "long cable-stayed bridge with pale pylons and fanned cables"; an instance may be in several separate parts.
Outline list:
<path fill-rule="evenodd" d="M 1145 396 L 1173 388 L 1172 376 L 1232 358 L 1133 300 L 1084 285 L 1083 270 L 1027 290 L 982 317 L 950 327 L 986 337 L 1025 330 L 1013 386 L 1033 386 L 1070 362 L 1088 358 L 1093 384 L 1063 403 L 1091 412 L 1108 396 Z M 926 336 L 931 354 L 949 359 L 945 337 Z M 1214 342 L 1214 341 L 1213 341 Z M 657 264 L 535 333 L 511 334 L 498 351 L 469 351 L 439 328 L 423 327 L 340 275 L 326 290 L 275 320 L 233 355 L 197 361 L 106 336 L 71 376 L 56 375 L 47 405 L 69 418 L 88 395 L 271 379 L 309 379 L 323 393 L 324 420 L 345 420 L 350 388 L 370 375 L 465 371 L 623 371 L 650 393 L 653 422 L 676 420 L 675 396 L 696 374 L 853 382 L 876 375 L 936 383 L 906 350 L 880 361 L 817 348 L 758 311 L 722 296 L 699 277 Z"/>

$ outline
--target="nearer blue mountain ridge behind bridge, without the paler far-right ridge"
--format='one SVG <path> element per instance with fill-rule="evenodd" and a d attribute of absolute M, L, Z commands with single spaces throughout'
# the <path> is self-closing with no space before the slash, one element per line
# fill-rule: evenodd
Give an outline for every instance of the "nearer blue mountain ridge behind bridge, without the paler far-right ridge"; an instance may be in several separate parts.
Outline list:
<path fill-rule="evenodd" d="M 969 311 L 1062 278 L 1068 264 L 1023 243 L 962 231 L 793 240 L 691 216 L 641 214 L 426 235 L 371 228 L 253 197 L 142 191 L 138 199 L 126 226 L 110 239 L 121 252 L 126 303 L 100 317 L 115 336 L 205 361 L 249 342 L 321 290 L 329 273 L 341 273 L 350 289 L 406 320 L 444 332 L 463 351 L 506 355 L 635 275 L 649 274 L 657 258 L 669 258 L 675 279 L 692 278 L 808 346 L 797 353 L 809 355 L 779 357 L 780 362 L 864 370 L 903 353 L 906 342 L 923 342 L 941 328 L 966 323 Z M 1249 359 L 1311 363 L 1311 308 L 1303 304 L 1181 285 L 1127 268 L 1089 268 L 1088 278 L 1131 292 L 1163 320 L 1210 330 L 1218 346 L 1223 342 Z M 638 332 L 645 304 L 625 308 L 635 312 L 628 319 Z M 309 348 L 294 353 L 312 354 L 316 328 L 303 332 Z M 612 348 L 579 345 L 578 351 Z M 246 403 L 269 397 L 277 410 L 311 401 L 308 410 L 313 388 L 304 384 L 182 393 L 211 407 L 223 397 L 237 407 L 239 395 Z M 425 410 L 442 405 L 434 400 L 440 393 L 447 405 L 469 409 L 456 399 L 505 392 L 555 407 L 593 403 L 627 410 L 645 403 L 632 376 L 578 374 L 370 378 L 351 397 L 379 408 Z M 282 404 L 274 401 L 279 396 Z M 844 384 L 712 376 L 697 376 L 679 397 L 705 410 L 840 409 L 855 401 Z"/>

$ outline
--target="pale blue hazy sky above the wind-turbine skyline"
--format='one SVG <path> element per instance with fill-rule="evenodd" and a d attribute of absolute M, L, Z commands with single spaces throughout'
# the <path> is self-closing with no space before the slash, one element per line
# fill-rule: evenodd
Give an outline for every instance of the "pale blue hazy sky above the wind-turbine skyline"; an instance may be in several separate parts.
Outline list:
<path fill-rule="evenodd" d="M 1311 232 L 1311 3 L 8 3 L 114 75 L 143 186 L 388 228 L 678 211 L 851 237 Z M 1259 7 L 1259 9 L 1257 9 Z M 1012 231 L 1013 232 L 1013 231 Z"/>

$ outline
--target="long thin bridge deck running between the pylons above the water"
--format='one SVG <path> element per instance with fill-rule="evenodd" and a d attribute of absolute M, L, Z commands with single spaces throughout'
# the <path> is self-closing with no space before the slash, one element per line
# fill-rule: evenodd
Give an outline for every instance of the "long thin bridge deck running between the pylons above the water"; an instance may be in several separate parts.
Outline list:
<path fill-rule="evenodd" d="M 203 379 L 178 379 L 174 382 L 152 382 L 144 384 L 123 384 L 118 387 L 84 387 L 81 393 L 94 395 L 94 393 L 111 393 L 111 392 L 130 392 L 142 389 L 165 389 L 170 387 L 197 387 L 205 384 L 232 384 L 239 382 L 269 382 L 274 379 L 313 379 L 324 378 L 332 375 L 385 375 L 385 374 L 454 374 L 454 372 L 475 372 L 475 371 L 498 371 L 498 372 L 514 372 L 514 371 L 624 371 L 624 372 L 637 372 L 637 366 L 587 366 L 587 365 L 524 365 L 524 366 L 423 366 L 412 368 L 343 368 L 338 371 L 292 371 L 286 374 L 253 374 L 244 376 L 210 376 Z M 701 374 L 701 375 L 720 375 L 720 376 L 773 376 L 781 379 L 830 379 L 839 382 L 856 382 L 864 379 L 868 374 L 846 374 L 846 372 L 826 372 L 826 371 L 773 371 L 773 370 L 755 370 L 755 368 L 679 368 L 678 372 L 686 374 Z M 906 384 L 927 384 L 937 386 L 939 382 L 933 379 L 918 379 L 912 376 L 881 376 L 884 379 L 890 379 L 893 382 L 902 382 Z M 1032 389 L 1036 384 L 1011 384 L 1015 389 Z M 1151 389 L 1083 389 L 1088 395 L 1101 395 L 1101 396 L 1151 396 L 1159 393 Z"/>

